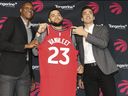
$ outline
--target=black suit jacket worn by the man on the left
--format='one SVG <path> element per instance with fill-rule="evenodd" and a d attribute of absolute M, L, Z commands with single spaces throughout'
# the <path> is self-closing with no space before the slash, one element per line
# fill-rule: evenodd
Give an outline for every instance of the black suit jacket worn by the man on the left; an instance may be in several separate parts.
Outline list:
<path fill-rule="evenodd" d="M 8 18 L 0 31 L 0 74 L 19 76 L 27 64 L 27 32 L 20 17 Z"/>

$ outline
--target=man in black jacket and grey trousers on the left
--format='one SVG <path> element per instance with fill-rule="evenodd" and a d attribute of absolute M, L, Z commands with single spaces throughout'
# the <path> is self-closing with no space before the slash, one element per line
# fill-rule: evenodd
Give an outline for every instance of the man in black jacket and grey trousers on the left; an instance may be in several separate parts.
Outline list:
<path fill-rule="evenodd" d="M 20 14 L 18 18 L 9 18 L 0 32 L 0 96 L 29 96 L 29 53 L 36 46 L 36 41 L 31 41 L 29 26 L 32 3 L 22 4 Z"/>

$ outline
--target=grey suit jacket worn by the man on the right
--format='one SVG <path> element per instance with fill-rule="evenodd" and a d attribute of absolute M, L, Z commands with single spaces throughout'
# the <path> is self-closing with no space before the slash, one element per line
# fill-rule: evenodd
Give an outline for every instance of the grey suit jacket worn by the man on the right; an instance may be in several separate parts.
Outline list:
<path fill-rule="evenodd" d="M 92 44 L 94 58 L 104 74 L 111 74 L 118 70 L 107 46 L 109 42 L 108 30 L 105 26 L 94 26 L 93 33 L 88 34 L 86 41 Z M 84 48 L 82 36 L 76 36 L 76 46 L 79 50 L 80 63 L 84 64 Z"/>

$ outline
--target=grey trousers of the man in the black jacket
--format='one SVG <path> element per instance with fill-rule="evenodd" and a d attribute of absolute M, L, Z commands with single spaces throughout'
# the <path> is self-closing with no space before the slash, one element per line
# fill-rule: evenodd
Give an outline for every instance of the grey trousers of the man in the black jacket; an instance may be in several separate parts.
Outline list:
<path fill-rule="evenodd" d="M 30 84 L 28 66 L 19 77 L 0 75 L 0 96 L 29 96 Z"/>

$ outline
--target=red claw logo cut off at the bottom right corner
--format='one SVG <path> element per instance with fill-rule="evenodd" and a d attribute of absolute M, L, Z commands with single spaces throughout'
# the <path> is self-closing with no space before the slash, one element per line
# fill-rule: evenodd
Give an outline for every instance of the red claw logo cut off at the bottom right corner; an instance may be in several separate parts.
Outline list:
<path fill-rule="evenodd" d="M 122 80 L 118 84 L 118 88 L 120 89 L 120 93 L 125 94 L 125 96 L 128 96 L 128 80 Z"/>

